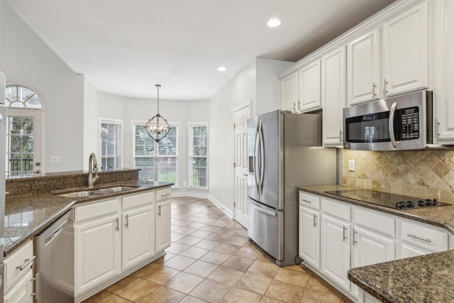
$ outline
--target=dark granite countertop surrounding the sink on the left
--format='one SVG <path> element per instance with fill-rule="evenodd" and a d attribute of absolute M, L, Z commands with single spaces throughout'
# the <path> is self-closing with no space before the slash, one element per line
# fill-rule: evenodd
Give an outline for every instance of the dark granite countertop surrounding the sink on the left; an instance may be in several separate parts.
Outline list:
<path fill-rule="evenodd" d="M 5 233 L 3 237 L 0 237 L 0 242 L 4 245 L 4 255 L 9 255 L 28 239 L 43 231 L 75 204 L 118 197 L 124 194 L 145 192 L 151 189 L 169 187 L 170 185 L 172 183 L 135 180 L 95 187 L 95 189 L 114 186 L 134 188 L 124 192 L 99 194 L 92 197 L 68 198 L 57 196 L 58 193 L 76 192 L 87 190 L 87 188 L 73 188 L 57 192 L 7 197 L 5 203 Z"/>

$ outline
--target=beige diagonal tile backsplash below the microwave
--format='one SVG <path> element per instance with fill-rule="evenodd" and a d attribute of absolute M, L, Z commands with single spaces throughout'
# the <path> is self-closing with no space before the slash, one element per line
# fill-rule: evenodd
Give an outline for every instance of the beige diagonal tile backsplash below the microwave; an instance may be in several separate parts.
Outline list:
<path fill-rule="evenodd" d="M 342 184 L 454 204 L 454 150 L 343 150 Z"/>

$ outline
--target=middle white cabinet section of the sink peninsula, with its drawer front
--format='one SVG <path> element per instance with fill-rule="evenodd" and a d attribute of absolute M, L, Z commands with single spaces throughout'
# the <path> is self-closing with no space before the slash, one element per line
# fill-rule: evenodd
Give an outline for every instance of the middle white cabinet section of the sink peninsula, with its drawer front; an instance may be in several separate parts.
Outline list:
<path fill-rule="evenodd" d="M 155 193 L 134 194 L 122 200 L 122 270 L 126 270 L 155 254 Z"/>

